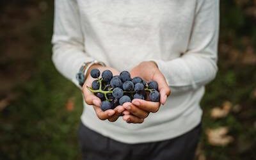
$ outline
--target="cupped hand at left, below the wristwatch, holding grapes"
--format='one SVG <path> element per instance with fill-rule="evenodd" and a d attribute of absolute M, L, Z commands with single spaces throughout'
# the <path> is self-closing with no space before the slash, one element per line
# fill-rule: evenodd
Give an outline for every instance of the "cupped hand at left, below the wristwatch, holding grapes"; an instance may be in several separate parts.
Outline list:
<path fill-rule="evenodd" d="M 91 87 L 92 82 L 95 80 L 93 77 L 90 76 L 90 71 L 93 68 L 98 68 L 100 70 L 100 73 L 102 73 L 104 70 L 110 70 L 113 73 L 113 76 L 119 75 L 119 72 L 111 67 L 103 67 L 101 65 L 92 65 L 92 67 L 89 68 L 88 74 L 86 75 L 86 80 L 83 84 L 83 95 L 84 100 L 86 104 L 92 105 L 93 109 L 95 110 L 96 115 L 100 120 L 109 120 L 110 122 L 115 122 L 120 115 L 122 115 L 122 112 L 125 110 L 123 106 L 117 106 L 115 109 L 108 109 L 106 111 L 102 111 L 100 109 L 101 100 L 99 97 L 95 96 L 90 90 L 88 90 L 87 86 Z"/>

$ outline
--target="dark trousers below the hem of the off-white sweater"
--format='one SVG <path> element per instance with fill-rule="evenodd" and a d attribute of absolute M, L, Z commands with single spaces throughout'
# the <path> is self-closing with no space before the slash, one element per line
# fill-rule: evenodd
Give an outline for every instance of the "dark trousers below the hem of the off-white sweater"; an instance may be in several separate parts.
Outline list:
<path fill-rule="evenodd" d="M 81 123 L 78 138 L 83 160 L 192 160 L 200 131 L 198 125 L 170 140 L 127 144 L 102 136 Z"/>

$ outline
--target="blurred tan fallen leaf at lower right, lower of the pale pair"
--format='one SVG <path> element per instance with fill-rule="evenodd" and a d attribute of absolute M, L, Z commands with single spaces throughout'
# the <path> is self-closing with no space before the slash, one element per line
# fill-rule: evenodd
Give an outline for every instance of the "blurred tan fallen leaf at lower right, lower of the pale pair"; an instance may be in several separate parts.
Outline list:
<path fill-rule="evenodd" d="M 227 135 L 228 127 L 219 127 L 216 129 L 207 129 L 207 140 L 211 145 L 214 146 L 226 146 L 232 141 L 234 138 L 232 136 Z"/>

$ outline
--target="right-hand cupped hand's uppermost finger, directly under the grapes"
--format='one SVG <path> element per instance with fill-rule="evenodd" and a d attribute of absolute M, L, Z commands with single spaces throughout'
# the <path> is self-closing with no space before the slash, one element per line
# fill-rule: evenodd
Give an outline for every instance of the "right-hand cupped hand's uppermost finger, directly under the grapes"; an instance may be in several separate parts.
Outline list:
<path fill-rule="evenodd" d="M 132 104 L 137 106 L 138 108 L 148 111 L 148 112 L 157 112 L 160 106 L 159 102 L 151 102 L 147 100 L 142 100 L 142 99 L 134 99 L 132 100 Z"/>

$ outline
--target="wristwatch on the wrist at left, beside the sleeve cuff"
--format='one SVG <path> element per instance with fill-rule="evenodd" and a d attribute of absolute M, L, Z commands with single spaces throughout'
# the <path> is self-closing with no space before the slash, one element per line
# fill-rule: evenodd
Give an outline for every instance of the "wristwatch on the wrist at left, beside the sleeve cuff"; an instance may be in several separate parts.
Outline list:
<path fill-rule="evenodd" d="M 85 81 L 85 76 L 88 72 L 88 69 L 92 65 L 102 65 L 102 66 L 106 67 L 106 64 L 103 63 L 102 61 L 93 60 L 93 61 L 84 62 L 83 65 L 79 68 L 79 71 L 76 74 L 76 79 L 77 79 L 80 86 L 83 86 L 84 81 Z"/>

